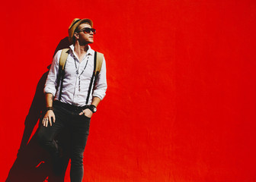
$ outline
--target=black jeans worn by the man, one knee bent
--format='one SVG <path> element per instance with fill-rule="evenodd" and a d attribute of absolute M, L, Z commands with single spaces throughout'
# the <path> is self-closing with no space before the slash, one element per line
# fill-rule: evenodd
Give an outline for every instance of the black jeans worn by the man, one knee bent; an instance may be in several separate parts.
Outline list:
<path fill-rule="evenodd" d="M 81 182 L 84 174 L 83 153 L 88 139 L 90 120 L 85 115 L 78 115 L 82 108 L 67 105 L 62 102 L 53 102 L 53 112 L 56 117 L 55 123 L 48 124 L 48 127 L 40 126 L 38 140 L 40 144 L 55 156 L 59 146 L 54 138 L 65 127 L 70 131 L 70 180 Z"/>

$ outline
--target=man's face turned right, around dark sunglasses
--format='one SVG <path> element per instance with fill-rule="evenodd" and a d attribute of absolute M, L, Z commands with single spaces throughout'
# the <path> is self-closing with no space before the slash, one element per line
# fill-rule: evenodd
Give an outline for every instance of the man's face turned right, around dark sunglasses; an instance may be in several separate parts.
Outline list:
<path fill-rule="evenodd" d="M 91 28 L 91 25 L 89 25 L 89 24 L 80 24 L 78 26 L 77 30 L 79 31 L 79 30 L 82 30 L 82 29 L 87 28 L 87 27 Z M 75 36 L 76 39 L 78 39 L 80 45 L 86 45 L 86 44 L 94 42 L 94 34 L 92 32 L 84 33 L 83 31 L 80 31 L 78 33 L 75 33 L 74 36 Z"/>

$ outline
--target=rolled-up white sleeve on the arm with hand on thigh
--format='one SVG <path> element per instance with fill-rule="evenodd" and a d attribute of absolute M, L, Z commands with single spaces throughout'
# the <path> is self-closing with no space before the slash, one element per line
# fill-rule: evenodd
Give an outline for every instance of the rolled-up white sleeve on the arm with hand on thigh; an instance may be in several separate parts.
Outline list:
<path fill-rule="evenodd" d="M 43 93 L 51 93 L 53 96 L 56 94 L 56 86 L 57 86 L 57 77 L 59 74 L 59 57 L 61 51 L 56 52 L 56 55 L 53 57 L 53 62 L 50 67 L 50 71 L 48 77 L 46 79 L 46 83 L 43 89 Z"/>

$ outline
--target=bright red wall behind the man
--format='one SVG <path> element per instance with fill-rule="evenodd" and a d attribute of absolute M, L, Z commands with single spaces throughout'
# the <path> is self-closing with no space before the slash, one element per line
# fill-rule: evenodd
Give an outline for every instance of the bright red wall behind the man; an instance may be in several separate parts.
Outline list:
<path fill-rule="evenodd" d="M 107 60 L 83 181 L 256 181 L 255 1 L 5 1 L 0 15 L 0 181 L 32 175 L 22 169 L 34 146 L 10 169 L 24 129 L 37 129 L 42 98 L 32 101 L 75 17 L 94 20 L 92 48 Z M 35 122 L 24 125 L 28 113 Z M 48 176 L 38 166 L 33 175 Z"/>

